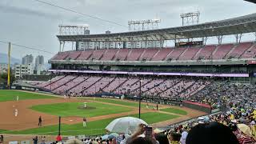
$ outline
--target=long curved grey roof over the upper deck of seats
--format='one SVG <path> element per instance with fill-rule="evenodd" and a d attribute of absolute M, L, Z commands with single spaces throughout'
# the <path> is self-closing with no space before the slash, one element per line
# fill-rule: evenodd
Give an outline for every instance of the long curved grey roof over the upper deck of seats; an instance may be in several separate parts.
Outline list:
<path fill-rule="evenodd" d="M 159 41 L 182 38 L 204 38 L 256 32 L 256 13 L 217 22 L 113 34 L 58 35 L 60 41 Z"/>

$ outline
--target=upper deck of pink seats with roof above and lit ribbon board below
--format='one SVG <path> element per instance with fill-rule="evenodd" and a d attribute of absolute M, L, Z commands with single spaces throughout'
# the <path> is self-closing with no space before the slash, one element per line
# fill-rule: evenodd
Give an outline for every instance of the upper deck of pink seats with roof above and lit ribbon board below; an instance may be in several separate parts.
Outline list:
<path fill-rule="evenodd" d="M 246 33 L 252 33 L 256 38 L 256 14 L 158 30 L 114 34 L 62 34 L 57 35 L 60 51 L 49 60 L 52 65 L 50 71 L 95 73 L 91 70 L 96 70 L 98 73 L 110 71 L 111 74 L 114 74 L 111 71 L 124 71 L 126 74 L 144 71 L 152 74 L 167 72 L 169 75 L 172 72 L 178 72 L 178 75 L 192 72 L 208 74 L 210 77 L 227 73 L 231 74 L 227 77 L 230 80 L 255 83 L 256 45 L 254 42 L 241 42 L 242 34 Z M 235 35 L 236 42 L 222 44 L 223 36 L 226 35 Z M 218 38 L 218 43 L 207 46 L 206 41 L 210 37 Z M 175 43 L 180 40 L 193 42 L 195 38 L 202 38 L 202 43 L 198 46 L 163 48 L 163 43 L 168 40 Z M 75 42 L 76 50 L 63 51 L 66 42 Z M 89 47 L 78 50 L 79 42 L 93 42 L 95 47 L 93 50 Z M 144 45 L 138 48 L 137 42 Z M 149 42 L 161 44 L 148 46 Z M 113 43 L 114 48 L 110 48 Z M 134 48 L 127 48 L 127 43 L 131 43 Z M 238 73 L 247 75 L 240 77 Z"/>

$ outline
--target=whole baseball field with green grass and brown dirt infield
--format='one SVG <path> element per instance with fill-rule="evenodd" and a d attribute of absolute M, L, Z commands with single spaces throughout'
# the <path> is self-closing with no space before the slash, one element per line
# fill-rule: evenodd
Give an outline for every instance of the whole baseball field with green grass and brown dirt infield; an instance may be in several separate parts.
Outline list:
<path fill-rule="evenodd" d="M 109 98 L 62 98 L 52 94 L 0 90 L 0 114 L 0 133 L 3 134 L 56 135 L 58 118 L 61 117 L 63 135 L 95 135 L 105 134 L 104 128 L 115 118 L 138 117 L 138 102 Z M 158 105 L 156 110 L 156 104 L 142 102 L 141 118 L 154 127 L 202 114 L 166 105 Z M 41 127 L 38 127 L 39 116 L 42 117 Z M 82 126 L 83 117 L 87 119 L 86 127 Z"/>

